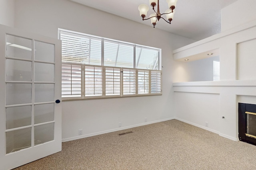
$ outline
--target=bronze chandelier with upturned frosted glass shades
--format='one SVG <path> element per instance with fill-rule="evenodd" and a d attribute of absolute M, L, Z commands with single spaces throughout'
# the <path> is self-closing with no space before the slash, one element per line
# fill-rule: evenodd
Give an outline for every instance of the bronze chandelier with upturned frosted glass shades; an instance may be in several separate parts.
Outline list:
<path fill-rule="evenodd" d="M 152 25 L 155 27 L 156 23 L 160 20 L 160 18 L 164 19 L 166 22 L 171 24 L 171 21 L 173 19 L 173 15 L 175 13 L 175 6 L 178 0 L 166 0 L 168 3 L 169 9 L 167 9 L 164 14 L 166 15 L 166 19 L 162 18 L 162 15 L 159 10 L 159 0 L 149 0 L 149 4 L 152 6 L 155 13 L 150 14 L 149 18 L 146 18 L 147 12 L 149 10 L 148 6 L 146 4 L 140 4 L 138 7 L 138 10 L 140 11 L 140 16 L 142 17 L 142 20 L 151 20 Z M 157 5 L 157 12 L 155 10 L 155 7 Z"/>

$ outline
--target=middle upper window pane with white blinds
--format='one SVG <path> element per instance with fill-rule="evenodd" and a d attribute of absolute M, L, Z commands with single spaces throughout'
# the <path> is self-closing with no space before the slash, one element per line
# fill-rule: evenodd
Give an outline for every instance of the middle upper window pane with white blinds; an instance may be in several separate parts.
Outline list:
<path fill-rule="evenodd" d="M 104 41 L 104 66 L 133 68 L 134 46 Z"/>

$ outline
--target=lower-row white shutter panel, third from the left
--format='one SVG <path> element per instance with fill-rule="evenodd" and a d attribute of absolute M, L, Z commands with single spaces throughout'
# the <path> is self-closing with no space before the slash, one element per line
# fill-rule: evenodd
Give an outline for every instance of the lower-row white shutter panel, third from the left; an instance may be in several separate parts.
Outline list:
<path fill-rule="evenodd" d="M 106 96 L 121 95 L 121 69 L 105 67 Z"/>

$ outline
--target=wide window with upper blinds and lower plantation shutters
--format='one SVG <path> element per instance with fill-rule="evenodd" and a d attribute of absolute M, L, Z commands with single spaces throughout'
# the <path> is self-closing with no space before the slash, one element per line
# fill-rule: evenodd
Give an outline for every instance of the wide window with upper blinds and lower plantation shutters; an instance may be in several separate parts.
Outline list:
<path fill-rule="evenodd" d="M 62 98 L 162 94 L 160 49 L 59 29 Z"/>

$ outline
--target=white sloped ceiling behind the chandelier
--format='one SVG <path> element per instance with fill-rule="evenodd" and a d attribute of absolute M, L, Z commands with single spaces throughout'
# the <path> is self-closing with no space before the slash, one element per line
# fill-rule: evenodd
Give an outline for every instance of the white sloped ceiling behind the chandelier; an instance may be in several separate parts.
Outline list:
<path fill-rule="evenodd" d="M 149 0 L 71 0 L 129 20 L 151 25 L 150 20 L 142 21 L 138 6 L 149 5 Z M 155 29 L 162 29 L 184 37 L 201 40 L 221 31 L 221 9 L 237 0 L 178 0 L 176 13 L 171 24 L 160 19 Z M 166 0 L 159 0 L 160 13 L 168 8 Z M 152 8 L 147 18 L 154 13 Z M 164 15 L 165 17 L 165 15 Z"/>

